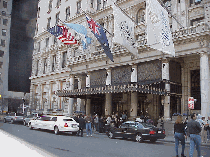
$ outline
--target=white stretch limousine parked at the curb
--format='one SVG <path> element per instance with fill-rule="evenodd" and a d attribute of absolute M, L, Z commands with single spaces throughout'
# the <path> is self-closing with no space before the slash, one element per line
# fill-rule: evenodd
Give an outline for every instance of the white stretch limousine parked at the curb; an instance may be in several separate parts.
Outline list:
<path fill-rule="evenodd" d="M 71 132 L 76 135 L 79 123 L 67 116 L 40 116 L 29 121 L 30 129 L 52 130 L 57 135 L 59 132 Z"/>

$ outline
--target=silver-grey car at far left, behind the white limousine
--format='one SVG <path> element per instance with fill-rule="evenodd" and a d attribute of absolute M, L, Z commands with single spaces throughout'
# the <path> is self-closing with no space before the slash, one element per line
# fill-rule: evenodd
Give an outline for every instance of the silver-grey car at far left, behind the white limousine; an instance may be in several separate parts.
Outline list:
<path fill-rule="evenodd" d="M 15 113 L 11 112 L 7 116 L 4 117 L 4 123 L 10 122 L 10 123 L 23 123 L 23 117 L 24 115 L 22 113 Z"/>

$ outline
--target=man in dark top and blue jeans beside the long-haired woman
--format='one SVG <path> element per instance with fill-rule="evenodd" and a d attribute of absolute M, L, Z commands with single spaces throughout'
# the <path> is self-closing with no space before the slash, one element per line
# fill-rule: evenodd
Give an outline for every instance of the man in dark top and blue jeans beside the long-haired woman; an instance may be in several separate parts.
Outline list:
<path fill-rule="evenodd" d="M 187 132 L 190 135 L 190 157 L 193 157 L 194 147 L 196 145 L 196 150 L 198 157 L 201 157 L 201 125 L 196 121 L 196 114 L 191 115 L 191 121 L 187 123 Z"/>

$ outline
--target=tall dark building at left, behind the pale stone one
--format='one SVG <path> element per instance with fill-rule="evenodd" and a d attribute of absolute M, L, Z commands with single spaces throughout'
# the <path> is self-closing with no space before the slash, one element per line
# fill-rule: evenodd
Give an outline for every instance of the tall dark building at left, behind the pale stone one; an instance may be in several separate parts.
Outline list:
<path fill-rule="evenodd" d="M 8 91 L 30 91 L 38 0 L 13 0 L 9 45 Z"/>

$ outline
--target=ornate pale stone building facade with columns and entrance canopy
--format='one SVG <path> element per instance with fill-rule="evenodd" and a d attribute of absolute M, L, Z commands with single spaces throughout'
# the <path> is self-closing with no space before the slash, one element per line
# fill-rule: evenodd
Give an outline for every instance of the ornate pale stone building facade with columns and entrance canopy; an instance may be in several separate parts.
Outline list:
<path fill-rule="evenodd" d="M 173 113 L 187 113 L 187 100 L 193 91 L 191 78 L 194 75 L 193 70 L 198 69 L 200 79 L 194 82 L 200 84 L 201 98 L 195 98 L 200 101 L 201 109 L 196 112 L 205 116 L 210 114 L 208 97 L 203 95 L 203 91 L 207 95 L 210 94 L 207 83 L 209 72 L 206 73 L 206 70 L 209 71 L 210 29 L 206 13 L 209 1 L 204 0 L 196 4 L 184 0 L 180 0 L 180 3 L 176 0 L 165 2 L 173 16 L 184 27 L 181 28 L 170 16 L 176 52 L 176 56 L 171 57 L 146 45 L 145 1 L 118 0 L 118 5 L 138 24 L 134 33 L 138 56 L 133 56 L 123 45 L 112 43 L 112 36 L 106 33 L 114 62 L 108 59 L 99 42 L 91 34 L 84 13 L 74 10 L 81 3 L 82 10 L 113 34 L 114 16 L 111 1 L 102 1 L 100 4 L 94 2 L 91 4 L 90 0 L 62 1 L 60 6 L 57 6 L 53 1 L 51 9 L 44 0 L 39 2 L 38 27 L 34 37 L 36 48 L 33 52 L 33 73 L 30 77 L 31 89 L 34 89 L 30 93 L 31 104 L 34 98 L 37 98 L 40 104 L 35 106 L 37 110 L 40 109 L 38 106 L 42 106 L 41 109 L 44 110 L 62 109 L 72 115 L 73 111 L 80 108 L 85 109 L 86 114 L 108 115 L 125 111 L 130 117 L 147 115 L 155 119 L 159 116 L 170 118 Z M 64 10 L 68 6 L 75 7 L 71 7 L 70 17 L 65 18 Z M 93 44 L 87 51 L 83 51 L 81 45 L 66 46 L 60 41 L 54 43 L 54 37 L 46 31 L 47 19 L 51 17 L 50 26 L 54 26 L 55 15 L 58 13 L 61 21 L 82 24 L 88 29 Z M 46 47 L 47 37 L 50 42 Z M 67 63 L 62 68 L 62 53 L 66 51 Z M 43 58 L 47 58 L 48 63 L 45 74 L 41 70 L 43 64 L 39 63 Z M 37 63 L 39 72 L 36 75 L 34 72 L 37 70 Z M 55 70 L 52 70 L 52 66 Z M 83 78 L 82 85 L 80 78 Z M 45 86 L 47 82 L 51 84 L 51 91 L 46 91 L 48 96 L 44 95 L 50 100 L 43 103 L 43 88 L 37 91 L 35 89 L 37 86 Z"/>

